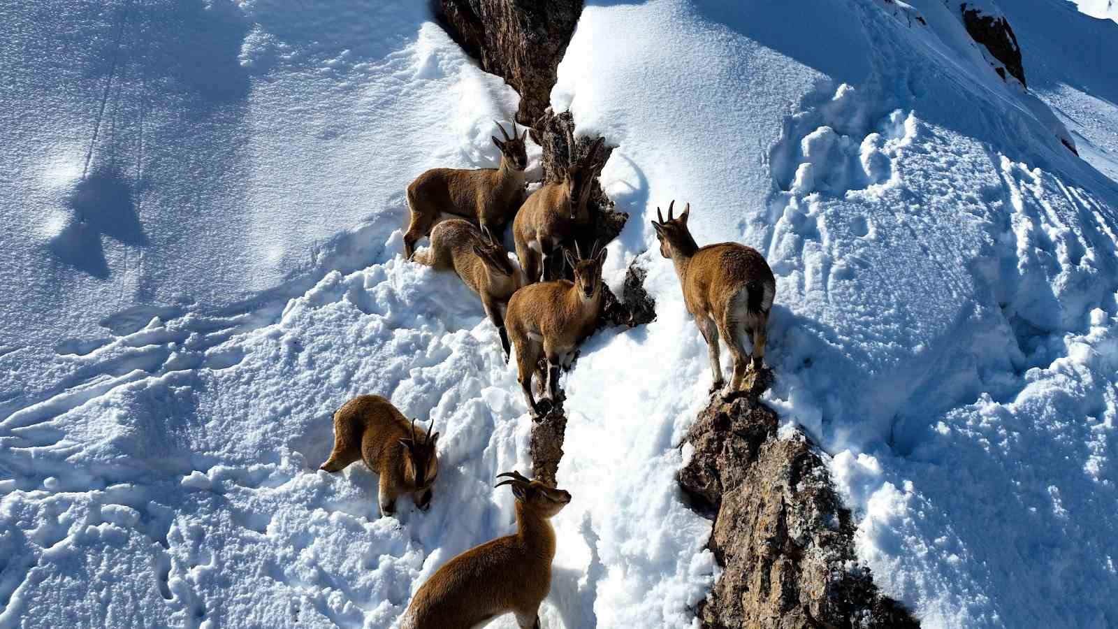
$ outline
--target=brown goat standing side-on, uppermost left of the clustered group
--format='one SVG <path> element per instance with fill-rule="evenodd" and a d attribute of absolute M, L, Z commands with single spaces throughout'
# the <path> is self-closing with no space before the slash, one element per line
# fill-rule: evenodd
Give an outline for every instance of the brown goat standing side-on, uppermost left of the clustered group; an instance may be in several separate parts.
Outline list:
<path fill-rule="evenodd" d="M 468 218 L 501 233 L 520 207 L 524 194 L 524 168 L 528 166 L 524 149 L 528 130 L 518 138 L 517 123 L 513 122 L 512 138 L 509 138 L 501 123 L 494 124 L 504 135 L 503 142 L 491 135 L 493 143 L 501 149 L 500 167 L 433 168 L 408 186 L 411 223 L 404 234 L 405 259 L 411 259 L 416 242 L 430 234 L 444 213 Z"/>

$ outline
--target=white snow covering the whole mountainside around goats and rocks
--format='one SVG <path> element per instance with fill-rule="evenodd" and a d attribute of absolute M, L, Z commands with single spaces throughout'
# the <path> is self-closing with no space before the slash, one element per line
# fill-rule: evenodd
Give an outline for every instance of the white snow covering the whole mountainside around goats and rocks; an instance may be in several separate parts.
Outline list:
<path fill-rule="evenodd" d="M 938 0 L 588 2 L 552 104 L 617 145 L 606 279 L 637 259 L 657 319 L 565 376 L 544 627 L 692 627 L 717 576 L 674 480 L 710 374 L 648 226 L 673 198 L 769 260 L 767 400 L 887 593 L 925 627 L 1118 625 L 1116 25 L 998 10 L 1031 92 Z M 495 165 L 517 95 L 426 3 L 0 24 L 0 627 L 390 627 L 513 529 L 514 367 L 399 231 L 420 171 Z M 316 470 L 359 393 L 434 419 L 429 511 Z"/>

